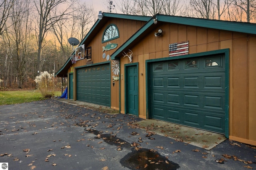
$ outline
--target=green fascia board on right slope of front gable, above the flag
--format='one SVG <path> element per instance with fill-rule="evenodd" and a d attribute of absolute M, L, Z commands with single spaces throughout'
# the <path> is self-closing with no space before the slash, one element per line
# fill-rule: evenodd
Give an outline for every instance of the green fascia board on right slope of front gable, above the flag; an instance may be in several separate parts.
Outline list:
<path fill-rule="evenodd" d="M 192 25 L 198 27 L 206 27 L 212 29 L 220 29 L 226 31 L 234 31 L 240 33 L 256 34 L 256 24 L 236 21 L 208 20 L 203 18 L 190 18 L 180 16 L 156 16 L 158 21 L 168 23 L 178 23 L 183 25 Z"/>

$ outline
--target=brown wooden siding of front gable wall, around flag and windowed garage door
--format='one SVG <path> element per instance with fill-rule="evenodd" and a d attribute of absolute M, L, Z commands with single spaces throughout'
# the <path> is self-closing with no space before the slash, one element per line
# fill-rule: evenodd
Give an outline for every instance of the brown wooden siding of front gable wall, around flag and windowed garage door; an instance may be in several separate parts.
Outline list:
<path fill-rule="evenodd" d="M 162 29 L 160 37 L 154 32 Z M 168 45 L 189 41 L 189 53 L 230 49 L 229 134 L 230 139 L 256 145 L 256 36 L 202 27 L 162 24 L 133 47 L 139 66 L 139 117 L 147 117 L 145 61 L 168 56 Z M 120 56 L 120 74 L 130 61 Z M 121 113 L 124 113 L 124 78 L 121 81 Z"/>

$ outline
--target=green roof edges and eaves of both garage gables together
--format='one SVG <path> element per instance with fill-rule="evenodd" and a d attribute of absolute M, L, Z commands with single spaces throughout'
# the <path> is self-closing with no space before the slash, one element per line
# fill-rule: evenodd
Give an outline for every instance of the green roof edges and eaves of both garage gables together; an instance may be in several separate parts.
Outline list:
<path fill-rule="evenodd" d="M 152 33 L 152 30 L 158 26 L 154 24 L 153 18 L 150 16 L 134 16 L 126 14 L 113 14 L 113 13 L 103 13 L 102 20 L 97 20 L 84 39 L 80 42 L 79 45 L 84 44 L 85 46 L 90 43 L 94 36 L 98 33 L 106 22 L 110 18 L 119 18 L 119 19 L 128 19 L 128 20 L 138 20 L 146 21 L 146 24 L 143 25 L 132 37 L 130 37 L 123 45 L 121 45 L 114 53 L 111 55 L 111 60 L 117 59 L 122 54 L 122 51 L 127 51 L 129 48 L 133 47 L 137 41 L 145 37 L 148 33 Z M 183 25 L 191 25 L 197 27 L 205 27 L 212 29 L 220 29 L 226 31 L 234 31 L 240 33 L 256 34 L 256 24 L 255 23 L 246 23 L 246 22 L 236 22 L 236 21 L 222 21 L 222 20 L 208 20 L 202 18 L 190 18 L 190 17 L 181 17 L 181 16 L 167 16 L 156 14 L 157 21 L 159 23 L 176 23 Z M 75 51 L 72 53 L 74 55 Z M 55 74 L 57 77 L 67 77 L 68 68 L 72 65 L 70 58 L 66 63 L 58 70 Z"/>

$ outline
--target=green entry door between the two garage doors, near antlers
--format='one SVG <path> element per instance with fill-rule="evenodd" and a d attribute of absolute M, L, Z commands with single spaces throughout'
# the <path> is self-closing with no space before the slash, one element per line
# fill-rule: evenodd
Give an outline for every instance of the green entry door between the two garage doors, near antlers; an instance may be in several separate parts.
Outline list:
<path fill-rule="evenodd" d="M 126 113 L 138 116 L 138 68 L 126 67 Z"/>

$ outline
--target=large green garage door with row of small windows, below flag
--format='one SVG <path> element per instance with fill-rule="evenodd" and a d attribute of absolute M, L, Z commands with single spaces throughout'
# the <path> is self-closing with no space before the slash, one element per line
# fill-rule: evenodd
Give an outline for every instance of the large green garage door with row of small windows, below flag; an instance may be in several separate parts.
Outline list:
<path fill-rule="evenodd" d="M 225 133 L 225 59 L 150 64 L 150 117 Z"/>

